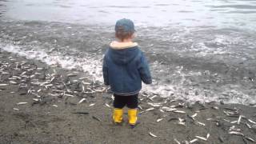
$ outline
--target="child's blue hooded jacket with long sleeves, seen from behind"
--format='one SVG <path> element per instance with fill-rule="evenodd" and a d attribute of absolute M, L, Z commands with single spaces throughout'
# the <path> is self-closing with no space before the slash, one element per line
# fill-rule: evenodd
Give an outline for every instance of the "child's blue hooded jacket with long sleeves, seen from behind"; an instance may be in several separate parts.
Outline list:
<path fill-rule="evenodd" d="M 112 92 L 118 95 L 138 94 L 142 82 L 152 82 L 150 69 L 142 50 L 138 46 L 110 47 L 103 59 L 103 78 Z"/>

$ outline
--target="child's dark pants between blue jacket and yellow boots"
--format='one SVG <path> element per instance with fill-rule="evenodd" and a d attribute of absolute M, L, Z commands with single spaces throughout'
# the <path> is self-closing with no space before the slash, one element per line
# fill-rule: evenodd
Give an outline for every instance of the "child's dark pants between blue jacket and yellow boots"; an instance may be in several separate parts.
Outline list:
<path fill-rule="evenodd" d="M 114 94 L 114 108 L 122 109 L 127 106 L 130 109 L 136 109 L 138 107 L 138 94 L 122 96 Z"/>

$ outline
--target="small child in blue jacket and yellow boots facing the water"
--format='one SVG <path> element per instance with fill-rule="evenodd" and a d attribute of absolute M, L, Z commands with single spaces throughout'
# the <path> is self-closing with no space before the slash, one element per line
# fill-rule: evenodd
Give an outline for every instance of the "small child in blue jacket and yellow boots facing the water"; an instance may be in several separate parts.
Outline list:
<path fill-rule="evenodd" d="M 134 22 L 120 19 L 115 25 L 117 41 L 111 42 L 103 59 L 103 78 L 114 92 L 113 121 L 122 122 L 122 108 L 127 106 L 129 124 L 137 122 L 138 93 L 142 82 L 152 82 L 146 58 L 134 38 Z"/>

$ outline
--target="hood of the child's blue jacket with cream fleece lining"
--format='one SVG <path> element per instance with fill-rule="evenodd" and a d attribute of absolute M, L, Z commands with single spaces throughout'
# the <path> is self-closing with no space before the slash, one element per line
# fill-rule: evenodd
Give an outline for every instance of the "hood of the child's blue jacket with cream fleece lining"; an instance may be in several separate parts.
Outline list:
<path fill-rule="evenodd" d="M 114 63 L 126 65 L 138 58 L 138 44 L 134 42 L 111 42 L 109 54 Z"/>

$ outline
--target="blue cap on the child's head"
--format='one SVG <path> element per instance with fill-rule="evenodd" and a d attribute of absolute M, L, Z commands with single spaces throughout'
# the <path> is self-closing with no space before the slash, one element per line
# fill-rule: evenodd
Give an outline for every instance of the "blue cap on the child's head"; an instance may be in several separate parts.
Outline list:
<path fill-rule="evenodd" d="M 122 27 L 125 32 L 134 32 L 134 22 L 130 19 L 122 18 L 115 23 L 114 30 L 117 31 L 118 27 Z"/>

